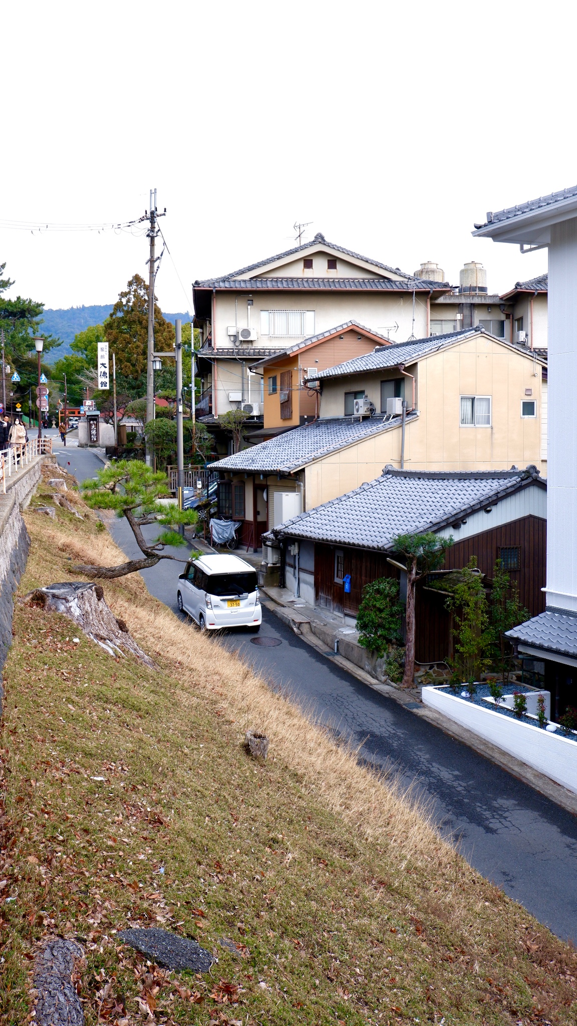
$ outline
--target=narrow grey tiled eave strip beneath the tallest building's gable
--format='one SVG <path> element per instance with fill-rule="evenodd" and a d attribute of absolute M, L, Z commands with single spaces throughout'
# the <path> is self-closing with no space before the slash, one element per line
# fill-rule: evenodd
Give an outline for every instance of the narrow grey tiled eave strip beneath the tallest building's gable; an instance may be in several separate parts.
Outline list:
<path fill-rule="evenodd" d="M 234 289 L 245 292 L 278 291 L 282 288 L 307 291 L 338 292 L 343 289 L 361 292 L 429 292 L 431 289 L 451 288 L 447 282 L 425 281 L 409 278 L 393 281 L 392 278 L 208 278 L 195 281 L 195 288 Z"/>

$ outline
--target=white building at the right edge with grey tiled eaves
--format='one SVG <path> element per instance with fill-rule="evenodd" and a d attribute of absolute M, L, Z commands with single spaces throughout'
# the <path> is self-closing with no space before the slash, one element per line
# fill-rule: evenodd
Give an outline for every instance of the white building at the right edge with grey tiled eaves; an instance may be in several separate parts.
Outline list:
<path fill-rule="evenodd" d="M 546 611 L 509 636 L 542 664 L 557 718 L 577 706 L 577 186 L 490 211 L 473 235 L 548 249 Z"/>

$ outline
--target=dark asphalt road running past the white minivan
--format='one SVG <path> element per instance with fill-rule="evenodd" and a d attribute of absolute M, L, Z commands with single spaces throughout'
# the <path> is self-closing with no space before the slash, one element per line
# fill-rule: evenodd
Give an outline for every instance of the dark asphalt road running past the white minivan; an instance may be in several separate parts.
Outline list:
<path fill-rule="evenodd" d="M 79 480 L 102 463 L 93 452 L 59 452 Z M 151 531 L 152 528 L 147 528 Z M 139 549 L 125 520 L 112 528 L 127 556 Z M 171 550 L 186 558 L 185 550 Z M 181 563 L 161 562 L 143 577 L 151 593 L 177 610 Z M 194 628 L 192 628 L 194 629 Z M 506 771 L 374 692 L 301 640 L 263 609 L 258 637 L 280 641 L 259 647 L 254 635 L 214 637 L 238 652 L 322 723 L 344 734 L 372 763 L 397 773 L 431 802 L 440 831 L 484 876 L 502 886 L 559 937 L 577 942 L 577 821 Z"/>

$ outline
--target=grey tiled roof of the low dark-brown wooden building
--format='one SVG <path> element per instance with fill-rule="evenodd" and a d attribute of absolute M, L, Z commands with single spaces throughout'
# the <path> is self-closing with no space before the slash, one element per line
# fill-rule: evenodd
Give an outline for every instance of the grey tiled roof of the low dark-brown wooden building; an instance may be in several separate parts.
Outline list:
<path fill-rule="evenodd" d="M 396 535 L 441 530 L 534 481 L 546 487 L 533 466 L 522 471 L 480 473 L 385 467 L 375 481 L 286 520 L 269 536 L 393 551 Z"/>

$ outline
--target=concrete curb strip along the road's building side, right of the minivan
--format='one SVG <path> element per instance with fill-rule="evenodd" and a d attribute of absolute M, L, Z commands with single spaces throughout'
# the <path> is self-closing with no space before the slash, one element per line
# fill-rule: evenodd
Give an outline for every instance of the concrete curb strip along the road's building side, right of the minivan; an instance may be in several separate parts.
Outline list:
<path fill-rule="evenodd" d="M 343 656 L 328 653 L 326 645 L 312 633 L 308 618 L 300 613 L 297 613 L 296 609 L 288 609 L 285 606 L 278 605 L 273 599 L 266 601 L 261 597 L 261 602 L 267 609 L 269 609 L 270 613 L 274 613 L 279 620 L 282 620 L 283 623 L 292 627 L 295 633 L 298 634 L 303 641 L 306 641 L 308 645 L 315 648 L 320 656 L 329 659 L 332 663 L 336 663 L 337 666 L 346 670 L 346 672 L 350 673 L 351 676 L 356 677 L 356 679 L 362 684 L 367 684 L 374 692 L 378 692 L 379 695 L 392 699 L 415 716 L 420 716 L 422 719 L 426 719 L 432 726 L 443 731 L 444 734 L 449 735 L 449 737 L 453 738 L 455 741 L 459 741 L 462 744 L 467 745 L 468 748 L 471 748 L 478 755 L 483 755 L 491 762 L 494 762 L 502 770 L 505 770 L 512 777 L 516 777 L 517 780 L 521 780 L 524 784 L 533 788 L 534 791 L 538 791 L 539 794 L 542 794 L 545 798 L 553 801 L 556 805 L 561 805 L 562 808 L 571 813 L 572 816 L 577 816 L 577 794 L 573 794 L 572 791 L 569 791 L 561 784 L 556 784 L 554 781 L 549 780 L 548 777 L 545 777 L 537 770 L 532 770 L 531 766 L 528 766 L 525 762 L 521 762 L 520 759 L 515 759 L 514 756 L 508 755 L 507 752 L 497 748 L 496 745 L 492 745 L 491 742 L 479 738 L 476 734 L 473 734 L 472 731 L 468 731 L 459 723 L 455 723 L 447 716 L 436 712 L 436 710 L 427 708 L 422 704 L 420 696 L 417 697 L 416 688 L 400 692 L 392 684 L 380 684 L 379 681 L 375 680 L 358 666 L 355 666 L 354 663 L 350 663 L 348 659 L 345 659 Z M 415 708 L 417 704 L 418 707 Z"/>

